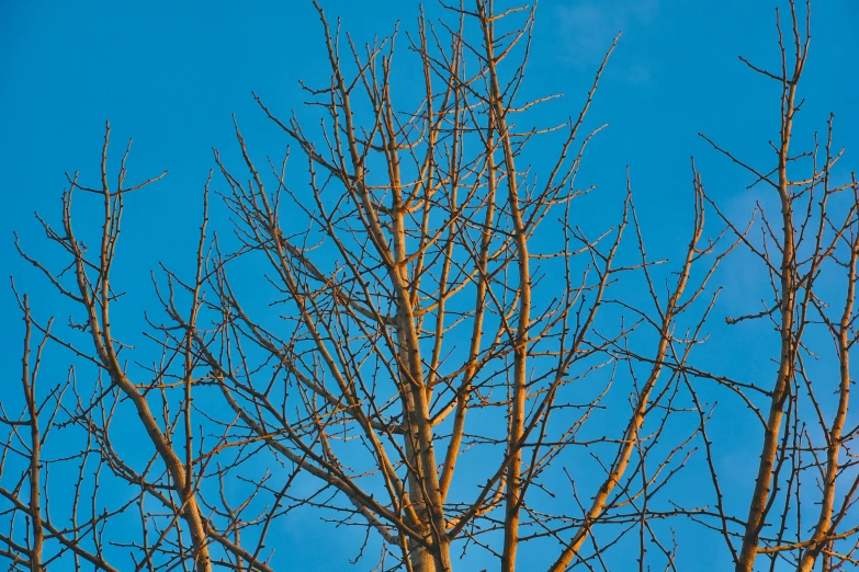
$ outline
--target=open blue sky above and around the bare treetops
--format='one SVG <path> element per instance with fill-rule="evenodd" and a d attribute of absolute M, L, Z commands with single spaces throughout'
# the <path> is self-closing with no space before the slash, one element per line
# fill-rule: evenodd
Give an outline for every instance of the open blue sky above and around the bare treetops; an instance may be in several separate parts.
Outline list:
<path fill-rule="evenodd" d="M 321 4 L 361 42 L 388 34 L 397 21 L 414 28 L 418 13 L 418 4 L 407 1 Z M 769 164 L 778 87 L 746 69 L 737 56 L 764 67 L 778 62 L 775 5 L 769 0 L 545 0 L 539 5 L 529 93 L 564 93 L 565 99 L 539 111 L 536 121 L 551 123 L 578 112 L 611 38 L 623 31 L 589 115 L 591 127 L 610 126 L 590 148 L 580 179 L 599 184 L 604 194 L 592 201 L 613 208 L 630 165 L 653 258 L 676 255 L 687 241 L 690 156 L 726 211 L 744 219 L 757 198 L 757 191 L 745 190 L 746 173 L 697 134 L 703 131 L 749 162 Z M 827 0 L 813 9 L 812 55 L 802 88 L 809 101 L 796 141 L 810 142 L 834 112 L 836 141 L 847 148 L 845 176 L 859 153 L 859 4 Z M 441 13 L 432 3 L 427 10 Z M 235 159 L 230 115 L 236 114 L 252 151 L 281 156 L 287 141 L 263 117 L 251 91 L 281 115 L 294 107 L 310 117 L 301 103 L 298 79 L 308 84 L 327 79 L 320 24 L 309 2 L 0 0 L 0 261 L 5 275 L 14 274 L 19 288 L 32 295 L 38 314 L 59 311 L 50 306 L 55 298 L 45 283 L 18 259 L 12 230 L 29 250 L 50 255 L 33 211 L 57 220 L 66 171 L 79 170 L 84 184 L 95 180 L 108 119 L 114 155 L 134 138 L 132 180 L 170 171 L 146 196 L 129 201 L 122 247 L 128 262 L 116 279 L 148 288 L 158 263 L 187 263 L 201 190 L 214 167 L 212 148 Z M 602 205 L 590 204 L 599 222 Z M 732 268 L 723 302 L 727 313 L 743 313 L 761 284 L 742 263 Z M 0 333 L 2 363 L 16 371 L 19 311 L 9 287 L 1 288 L 0 320 L 11 324 Z M 144 295 L 124 311 L 139 317 L 146 300 Z M 768 347 L 757 352 L 748 340 L 714 335 L 721 355 L 741 356 L 738 368 L 761 367 Z M 722 423 L 725 436 L 745 426 L 742 419 Z M 730 472 L 749 460 L 748 450 L 725 450 L 724 459 Z M 737 485 L 749 483 L 744 478 Z M 307 527 L 291 523 L 284 530 L 284 544 L 297 547 L 293 558 L 306 570 L 326 570 L 307 546 L 310 540 Z M 338 558 L 351 553 L 344 549 Z M 726 553 L 715 550 L 714 556 Z"/>

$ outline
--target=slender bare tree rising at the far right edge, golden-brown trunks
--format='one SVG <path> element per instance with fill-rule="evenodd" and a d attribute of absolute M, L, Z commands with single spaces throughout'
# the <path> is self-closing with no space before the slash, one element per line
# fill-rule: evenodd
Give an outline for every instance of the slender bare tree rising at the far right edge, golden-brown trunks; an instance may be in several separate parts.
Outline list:
<path fill-rule="evenodd" d="M 769 274 L 772 297 L 770 301 L 761 300 L 762 311 L 727 320 L 730 324 L 770 320 L 780 342 L 775 382 L 753 385 L 767 398 L 762 413 L 758 412 L 764 443 L 748 516 L 744 519 L 742 548 L 738 554 L 731 548 L 738 571 L 754 570 L 760 553 L 770 556 L 770 570 L 779 559 L 803 571 L 814 569 L 821 557 L 823 570 L 857 563 L 852 554 L 859 529 L 845 518 L 856 502 L 859 472 L 854 460 L 840 459 L 843 454 L 852 457 L 851 441 L 856 432 L 855 428 L 845 431 L 845 424 L 851 385 L 849 351 L 856 341 L 859 195 L 855 176 L 843 184 L 833 182 L 832 170 L 841 152 L 835 152 L 832 147 L 832 116 L 822 144 L 815 134 L 811 150 L 796 152 L 791 148 L 794 118 L 802 105 L 798 98 L 800 78 L 811 42 L 811 4 L 806 4 L 804 19 L 792 1 L 789 12 L 790 30 L 785 38 L 781 16 L 776 11 L 781 69 L 768 71 L 741 57 L 756 73 L 781 87 L 779 137 L 770 141 L 777 156 L 775 167 L 769 171 L 757 170 L 708 139 L 717 151 L 754 175 L 753 186 L 761 185 L 767 193 L 777 195 L 781 220 L 779 231 L 770 222 L 778 218 L 767 215 L 766 203 L 761 201 L 757 207 L 759 240 L 746 238 L 745 232 L 738 234 Z M 801 169 L 809 175 L 796 178 L 794 173 Z M 836 209 L 834 204 L 838 205 Z M 716 211 L 725 218 L 717 207 Z M 834 282 L 838 275 L 846 281 L 840 291 L 833 293 L 827 282 Z M 837 368 L 824 373 L 814 362 L 827 351 L 826 334 L 835 350 L 835 355 L 826 362 L 837 364 Z M 833 374 L 835 384 L 830 381 Z M 821 398 L 821 388 L 834 393 L 835 399 Z M 813 487 L 807 480 L 802 482 L 806 471 L 814 474 Z M 840 502 L 836 503 L 839 483 L 844 490 Z M 782 505 L 780 514 L 776 512 L 777 503 Z M 807 508 L 809 504 L 818 507 Z M 814 524 L 803 525 L 803 515 L 811 516 Z M 791 523 L 792 518 L 795 523 Z M 767 526 L 772 533 L 764 538 Z M 731 545 L 731 539 L 726 539 Z M 835 550 L 836 542 L 844 548 Z"/>

